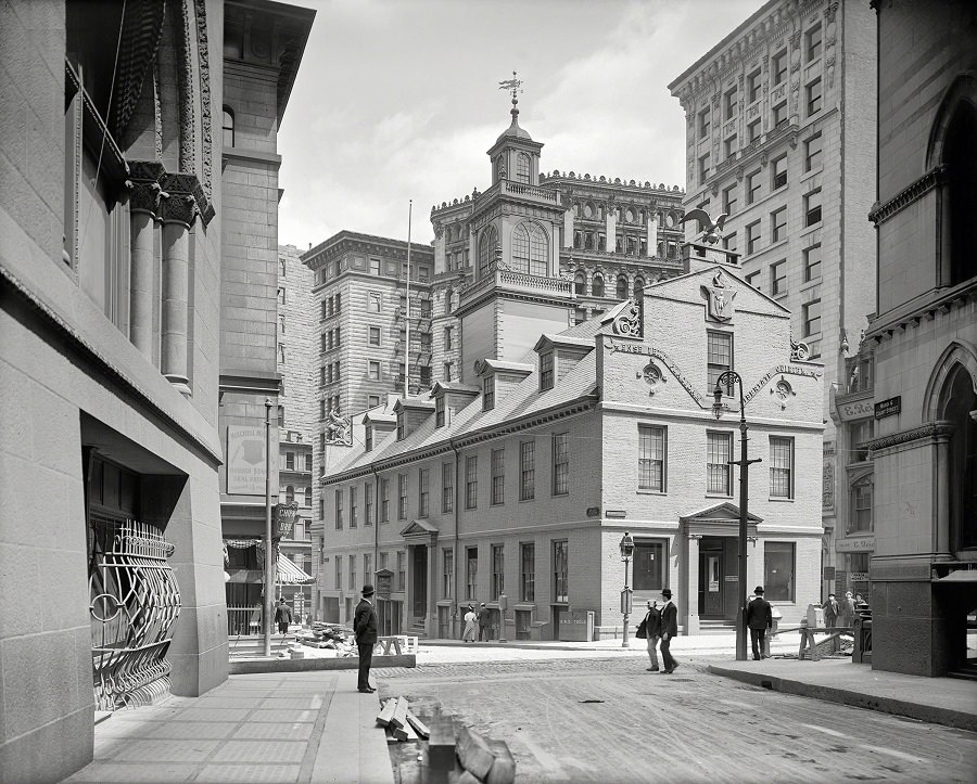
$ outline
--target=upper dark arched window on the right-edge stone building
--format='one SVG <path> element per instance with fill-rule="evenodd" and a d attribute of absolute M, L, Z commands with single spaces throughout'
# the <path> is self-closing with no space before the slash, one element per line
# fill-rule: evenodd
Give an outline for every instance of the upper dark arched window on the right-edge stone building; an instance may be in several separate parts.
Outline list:
<path fill-rule="evenodd" d="M 977 275 L 977 107 L 961 101 L 947 128 L 943 165 L 950 190 L 950 280 L 955 286 Z M 946 268 L 944 268 L 946 269 Z"/>

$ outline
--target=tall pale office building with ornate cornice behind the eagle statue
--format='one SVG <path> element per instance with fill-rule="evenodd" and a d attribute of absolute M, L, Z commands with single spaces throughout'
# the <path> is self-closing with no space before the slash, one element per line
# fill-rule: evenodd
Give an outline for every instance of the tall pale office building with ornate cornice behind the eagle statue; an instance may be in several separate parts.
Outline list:
<path fill-rule="evenodd" d="M 669 85 L 686 118 L 686 209 L 727 214 L 723 246 L 790 310 L 841 395 L 875 311 L 875 31 L 868 3 L 771 0 Z M 825 395 L 824 593 L 852 492 L 835 414 Z"/>

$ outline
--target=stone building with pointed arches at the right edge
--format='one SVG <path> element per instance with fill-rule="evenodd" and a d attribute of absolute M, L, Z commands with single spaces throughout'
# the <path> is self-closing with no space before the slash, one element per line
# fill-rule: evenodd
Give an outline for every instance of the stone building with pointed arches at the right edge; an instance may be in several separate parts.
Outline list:
<path fill-rule="evenodd" d="M 977 10 L 877 0 L 875 669 L 977 669 Z"/>

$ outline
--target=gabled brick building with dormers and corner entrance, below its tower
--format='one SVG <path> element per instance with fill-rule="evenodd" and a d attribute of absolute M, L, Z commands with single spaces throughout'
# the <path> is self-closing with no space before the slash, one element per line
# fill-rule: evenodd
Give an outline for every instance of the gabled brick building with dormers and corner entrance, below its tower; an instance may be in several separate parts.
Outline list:
<path fill-rule="evenodd" d="M 686 246 L 682 264 L 516 358 L 483 356 L 465 383 L 369 410 L 321 480 L 317 613 L 347 621 L 376 574 L 386 632 L 457 637 L 470 602 L 486 603 L 494 637 L 559 639 L 573 611 L 610 632 L 627 530 L 636 603 L 670 587 L 686 633 L 732 624 L 738 402 L 712 411 L 728 369 L 759 380 L 748 584 L 789 618 L 816 601 L 822 367 L 797 359 L 789 313 L 745 283 L 735 255 Z"/>

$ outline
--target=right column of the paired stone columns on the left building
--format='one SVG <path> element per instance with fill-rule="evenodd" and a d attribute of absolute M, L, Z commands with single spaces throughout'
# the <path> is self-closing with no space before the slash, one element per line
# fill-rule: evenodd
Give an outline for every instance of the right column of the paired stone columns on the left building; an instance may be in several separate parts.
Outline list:
<path fill-rule="evenodd" d="M 176 178 L 180 178 L 179 175 Z M 174 178 L 174 179 L 176 179 Z M 182 179 L 182 178 L 180 178 Z M 190 397 L 188 320 L 190 298 L 190 227 L 196 198 L 186 190 L 167 188 L 163 204 L 163 375 Z"/>

